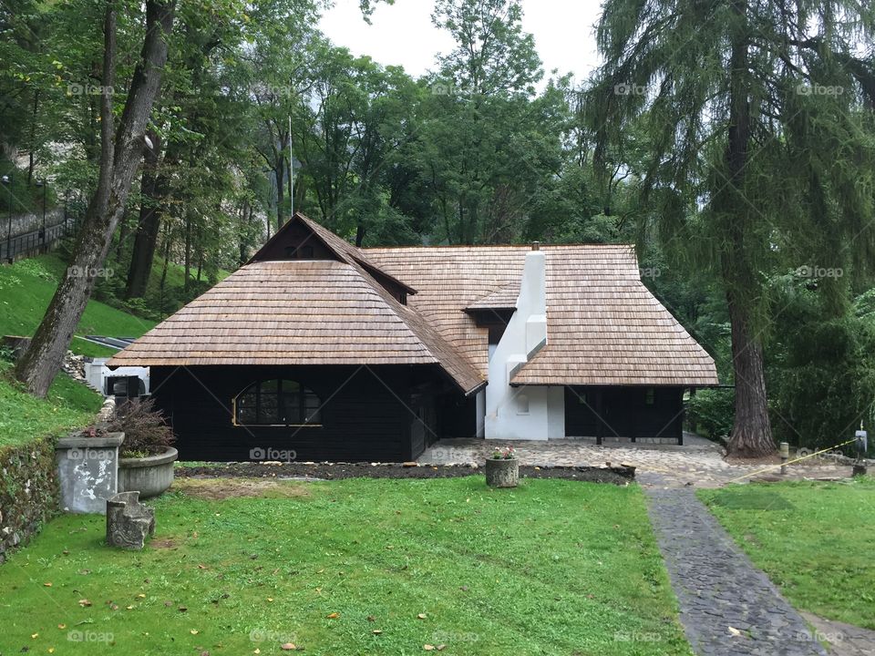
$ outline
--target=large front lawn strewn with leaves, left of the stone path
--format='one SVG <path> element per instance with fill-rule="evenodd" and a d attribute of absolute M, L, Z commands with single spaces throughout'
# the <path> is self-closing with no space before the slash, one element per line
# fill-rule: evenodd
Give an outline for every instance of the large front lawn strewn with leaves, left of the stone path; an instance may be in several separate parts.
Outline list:
<path fill-rule="evenodd" d="M 3 653 L 690 653 L 635 486 L 195 481 L 154 505 L 142 552 L 65 516 L 0 566 Z"/>

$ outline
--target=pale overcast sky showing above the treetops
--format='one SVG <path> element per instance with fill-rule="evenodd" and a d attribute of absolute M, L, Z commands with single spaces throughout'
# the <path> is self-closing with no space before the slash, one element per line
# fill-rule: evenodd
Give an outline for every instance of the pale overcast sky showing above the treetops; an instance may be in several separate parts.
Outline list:
<path fill-rule="evenodd" d="M 319 23 L 325 36 L 354 55 L 370 55 L 383 65 L 403 66 L 418 77 L 435 68 L 435 56 L 453 48 L 447 32 L 431 24 L 431 0 L 396 0 L 376 5 L 371 25 L 362 19 L 358 0 L 335 0 Z M 582 80 L 598 65 L 593 26 L 601 13 L 598 0 L 522 0 L 522 27 L 551 69 Z"/>

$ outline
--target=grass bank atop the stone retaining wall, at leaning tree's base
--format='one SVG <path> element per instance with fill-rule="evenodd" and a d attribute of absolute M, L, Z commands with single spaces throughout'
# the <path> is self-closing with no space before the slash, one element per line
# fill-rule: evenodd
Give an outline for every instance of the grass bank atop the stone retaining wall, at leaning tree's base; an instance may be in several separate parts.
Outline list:
<path fill-rule="evenodd" d="M 103 404 L 97 392 L 64 373 L 57 375 L 46 398 L 38 399 L 10 379 L 11 366 L 0 362 L 0 446 L 87 425 Z"/>

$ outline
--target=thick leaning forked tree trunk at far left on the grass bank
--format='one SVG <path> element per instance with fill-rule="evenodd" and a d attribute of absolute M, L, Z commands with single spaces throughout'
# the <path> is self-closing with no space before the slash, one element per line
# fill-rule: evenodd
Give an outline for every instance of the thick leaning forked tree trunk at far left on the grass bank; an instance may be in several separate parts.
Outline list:
<path fill-rule="evenodd" d="M 71 266 L 57 287 L 26 354 L 15 365 L 15 377 L 31 394 L 45 396 L 73 338 L 96 274 L 106 261 L 112 235 L 128 199 L 144 146 L 143 137 L 160 89 L 173 26 L 174 0 L 147 0 L 146 29 L 140 60 L 128 98 L 113 133 L 112 94 L 100 97 L 100 173 L 98 188 L 88 202 Z M 104 20 L 103 85 L 115 84 L 116 4 L 107 3 Z"/>

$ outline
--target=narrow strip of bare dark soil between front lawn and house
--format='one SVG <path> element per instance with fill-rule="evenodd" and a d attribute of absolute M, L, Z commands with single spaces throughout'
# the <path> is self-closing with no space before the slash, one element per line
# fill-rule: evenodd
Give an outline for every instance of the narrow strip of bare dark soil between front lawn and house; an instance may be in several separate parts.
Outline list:
<path fill-rule="evenodd" d="M 179 466 L 176 477 L 181 480 L 198 478 L 291 478 L 304 480 L 338 480 L 341 478 L 454 478 L 482 476 L 483 469 L 469 465 L 418 465 L 400 463 L 216 463 L 208 466 Z M 634 480 L 632 466 L 520 466 L 522 478 L 564 478 L 566 480 L 625 485 Z M 232 493 L 233 494 L 233 493 Z M 235 495 L 240 496 L 240 495 Z M 256 495 L 262 496 L 262 495 Z"/>

